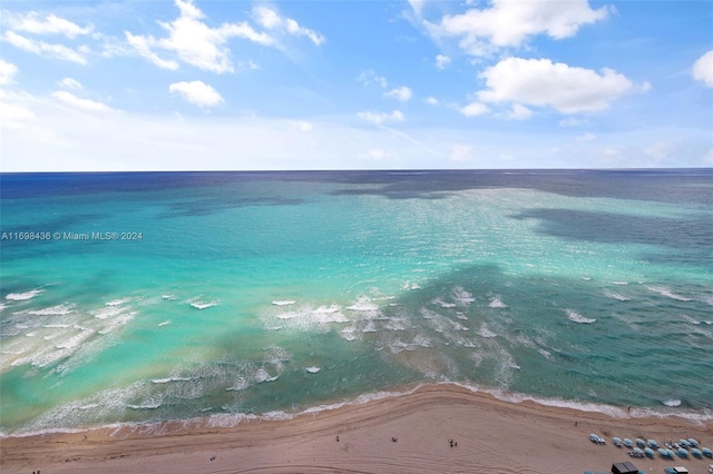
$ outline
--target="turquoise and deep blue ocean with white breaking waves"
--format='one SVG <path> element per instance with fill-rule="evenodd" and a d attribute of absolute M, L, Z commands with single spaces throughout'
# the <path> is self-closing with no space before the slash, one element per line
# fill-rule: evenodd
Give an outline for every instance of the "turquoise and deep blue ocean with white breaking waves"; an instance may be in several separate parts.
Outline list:
<path fill-rule="evenodd" d="M 713 419 L 713 169 L 0 175 L 0 433 L 456 383 Z"/>

